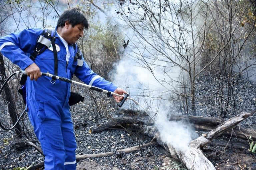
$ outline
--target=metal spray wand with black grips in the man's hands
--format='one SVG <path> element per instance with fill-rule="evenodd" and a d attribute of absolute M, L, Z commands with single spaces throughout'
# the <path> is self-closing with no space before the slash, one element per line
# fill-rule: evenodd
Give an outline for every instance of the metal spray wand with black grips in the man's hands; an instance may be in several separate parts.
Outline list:
<path fill-rule="evenodd" d="M 113 93 L 111 91 L 107 91 L 107 90 L 104 90 L 104 89 L 101 89 L 101 88 L 98 88 L 98 87 L 95 87 L 95 86 L 90 86 L 90 85 L 87 85 L 87 84 L 84 84 L 84 83 L 80 83 L 80 82 L 77 82 L 77 81 L 73 81 L 73 80 L 70 80 L 68 78 L 65 78 L 65 77 L 59 77 L 59 76 L 56 76 L 56 75 L 53 75 L 53 74 L 50 74 L 49 72 L 47 73 L 41 73 L 42 76 L 48 76 L 48 77 L 55 77 L 55 79 L 58 79 L 60 81 L 64 81 L 64 82 L 67 82 L 67 83 L 70 83 L 70 84 L 76 84 L 76 85 L 79 85 L 79 86 L 83 86 L 83 87 L 86 87 L 86 88 L 89 88 L 89 89 L 92 89 L 92 90 L 95 90 L 95 91 L 98 91 L 98 92 L 103 92 L 103 93 L 106 93 L 106 94 L 110 94 L 110 95 L 115 95 L 115 96 L 119 96 L 119 97 L 122 97 L 123 95 L 120 95 L 120 94 L 116 94 L 116 93 Z M 136 105 L 140 105 L 137 101 L 135 101 L 134 99 L 132 98 L 129 98 L 128 97 L 129 94 L 125 94 L 123 97 L 123 99 L 119 102 L 118 106 L 119 107 L 122 107 L 124 102 L 126 101 L 126 99 L 129 99 L 129 100 L 132 100 Z"/>

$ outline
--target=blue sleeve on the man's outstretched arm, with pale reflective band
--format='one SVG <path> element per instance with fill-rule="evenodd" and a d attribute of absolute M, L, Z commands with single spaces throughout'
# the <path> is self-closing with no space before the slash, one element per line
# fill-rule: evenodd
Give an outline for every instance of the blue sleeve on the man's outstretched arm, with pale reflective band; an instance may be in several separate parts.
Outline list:
<path fill-rule="evenodd" d="M 105 80 L 104 78 L 94 73 L 85 61 L 83 61 L 82 66 L 77 67 L 75 75 L 77 78 L 79 78 L 88 85 L 99 87 L 111 92 L 114 92 L 117 89 L 116 85 L 112 84 L 111 82 Z"/>

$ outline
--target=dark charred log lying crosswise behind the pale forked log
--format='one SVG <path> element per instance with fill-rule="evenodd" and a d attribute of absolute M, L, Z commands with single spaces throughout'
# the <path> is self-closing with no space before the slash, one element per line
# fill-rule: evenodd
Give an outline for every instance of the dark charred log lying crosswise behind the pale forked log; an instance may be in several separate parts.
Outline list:
<path fill-rule="evenodd" d="M 145 114 L 145 117 L 139 117 L 135 116 L 135 111 L 125 111 L 125 116 L 119 117 L 117 119 L 114 119 L 98 128 L 93 129 L 93 133 L 97 133 L 103 130 L 107 130 L 110 128 L 127 128 L 132 129 L 132 127 L 136 125 L 147 125 L 152 126 L 152 120 L 150 120 L 150 117 L 147 117 Z M 129 114 L 127 114 L 129 113 Z M 138 112 L 140 116 L 143 112 Z M 127 116 L 126 116 L 127 115 Z M 223 123 L 225 120 L 220 118 L 209 118 L 209 117 L 199 117 L 199 116 L 175 116 L 173 115 L 171 118 L 169 118 L 169 121 L 182 121 L 185 123 L 189 123 L 191 126 L 194 127 L 196 131 L 211 131 L 214 128 L 217 128 L 221 123 Z M 137 129 L 137 128 L 135 128 Z M 132 130 L 131 130 L 132 131 Z M 232 136 L 237 137 L 240 139 L 248 139 L 250 136 L 252 136 L 252 139 L 256 141 L 256 130 L 250 129 L 250 128 L 244 128 L 241 126 L 235 126 L 231 129 L 228 129 L 224 133 L 222 133 L 224 136 Z"/>

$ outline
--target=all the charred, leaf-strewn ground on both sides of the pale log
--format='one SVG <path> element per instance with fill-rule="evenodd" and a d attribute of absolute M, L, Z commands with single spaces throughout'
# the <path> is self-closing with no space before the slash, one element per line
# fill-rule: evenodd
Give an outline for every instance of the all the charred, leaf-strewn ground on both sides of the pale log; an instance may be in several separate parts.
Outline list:
<path fill-rule="evenodd" d="M 206 84 L 206 81 L 209 80 L 202 78 L 201 81 L 198 81 L 197 86 L 201 93 L 211 96 L 210 93 L 214 90 L 209 91 L 212 85 Z M 87 91 L 85 94 L 85 96 L 88 96 L 91 92 Z M 90 157 L 78 161 L 77 170 L 185 170 L 178 160 L 171 158 L 169 152 L 158 144 L 131 153 L 115 152 L 116 150 L 148 143 L 152 139 L 149 136 L 131 133 L 124 129 L 108 129 L 99 133 L 91 133 L 91 129 L 110 121 L 119 112 L 119 108 L 116 104 L 113 104 L 113 101 L 109 102 L 102 94 L 94 94 L 94 99 L 90 98 L 71 107 L 77 140 L 76 154 L 98 154 L 111 151 L 114 154 Z M 237 108 L 240 111 L 255 111 L 255 94 L 255 85 L 249 82 L 243 90 L 238 89 L 237 94 L 235 94 L 239 96 Z M 243 100 L 243 96 L 248 100 Z M 101 101 L 95 103 L 95 98 Z M 205 110 L 204 105 L 199 105 L 197 113 L 201 116 L 214 116 L 216 114 L 214 108 L 214 106 L 207 107 L 206 112 L 203 111 Z M 98 112 L 96 112 L 97 110 Z M 240 124 L 246 128 L 256 129 L 255 118 L 256 114 Z M 27 119 L 24 119 L 24 121 L 26 122 Z M 31 138 L 36 139 L 28 122 L 26 122 L 26 128 L 30 129 Z M 203 132 L 198 133 L 200 135 Z M 13 131 L 0 129 L 0 139 L 0 170 L 12 170 L 43 162 L 44 157 L 34 147 L 13 147 L 14 143 L 26 140 L 25 136 L 19 139 Z M 40 147 L 39 142 L 36 142 L 36 145 Z M 248 148 L 249 140 L 220 136 L 206 145 L 203 148 L 203 153 L 217 170 L 256 170 L 256 154 L 249 152 Z M 43 168 L 38 168 L 38 170 L 41 169 Z"/>

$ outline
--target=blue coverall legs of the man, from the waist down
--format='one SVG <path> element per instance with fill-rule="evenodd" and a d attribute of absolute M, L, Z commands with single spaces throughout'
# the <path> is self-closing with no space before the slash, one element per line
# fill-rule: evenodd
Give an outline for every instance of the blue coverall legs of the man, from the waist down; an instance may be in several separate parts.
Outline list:
<path fill-rule="evenodd" d="M 27 100 L 29 119 L 45 155 L 45 170 L 75 170 L 76 142 L 69 107 Z"/>

